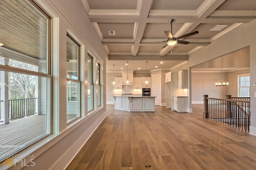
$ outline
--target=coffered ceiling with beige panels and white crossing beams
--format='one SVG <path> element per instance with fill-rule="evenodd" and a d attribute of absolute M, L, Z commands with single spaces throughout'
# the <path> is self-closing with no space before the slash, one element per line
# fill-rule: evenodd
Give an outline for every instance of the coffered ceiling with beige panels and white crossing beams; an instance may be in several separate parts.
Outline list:
<path fill-rule="evenodd" d="M 125 67 L 129 70 L 171 68 L 187 60 L 188 54 L 234 29 L 255 19 L 255 0 L 82 0 L 90 21 L 102 40 L 109 58 L 106 70 Z M 186 37 L 187 45 L 176 44 L 162 49 L 168 38 L 164 31 Z M 222 30 L 210 31 L 216 25 Z M 114 31 L 110 35 L 109 31 Z M 160 64 L 160 61 L 163 64 Z"/>

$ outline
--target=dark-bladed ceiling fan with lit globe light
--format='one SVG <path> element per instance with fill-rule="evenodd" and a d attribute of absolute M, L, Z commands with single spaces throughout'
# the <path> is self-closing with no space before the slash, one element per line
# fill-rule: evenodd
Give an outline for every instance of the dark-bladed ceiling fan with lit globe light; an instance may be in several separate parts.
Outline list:
<path fill-rule="evenodd" d="M 172 23 L 174 22 L 174 20 L 171 19 L 171 20 L 169 20 L 169 22 L 171 23 L 171 32 L 170 31 L 164 31 L 164 33 L 166 34 L 168 39 L 166 41 L 160 41 L 160 42 L 167 42 L 167 44 L 164 45 L 164 47 L 162 47 L 162 49 L 164 49 L 168 45 L 174 45 L 176 43 L 178 43 L 178 44 L 188 44 L 189 43 L 188 41 L 182 41 L 182 40 L 179 40 L 179 39 L 186 38 L 186 37 L 189 37 L 191 35 L 195 35 L 195 34 L 198 33 L 198 31 L 194 31 L 194 32 L 191 32 L 191 33 L 181 35 L 180 37 L 177 37 L 177 38 L 172 37 Z"/>

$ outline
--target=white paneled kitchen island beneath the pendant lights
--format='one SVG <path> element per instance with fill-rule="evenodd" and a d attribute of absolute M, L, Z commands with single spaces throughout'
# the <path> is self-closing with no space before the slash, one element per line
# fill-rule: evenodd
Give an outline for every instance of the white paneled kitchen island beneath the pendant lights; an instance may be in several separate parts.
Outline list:
<path fill-rule="evenodd" d="M 115 109 L 125 111 L 155 111 L 155 96 L 113 95 Z"/>

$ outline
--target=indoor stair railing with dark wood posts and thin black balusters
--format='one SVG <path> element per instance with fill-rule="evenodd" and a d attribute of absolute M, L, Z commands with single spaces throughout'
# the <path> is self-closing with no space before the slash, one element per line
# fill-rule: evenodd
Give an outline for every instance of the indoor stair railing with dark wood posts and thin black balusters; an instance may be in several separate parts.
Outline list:
<path fill-rule="evenodd" d="M 208 98 L 204 95 L 204 117 L 250 132 L 250 98 Z"/>

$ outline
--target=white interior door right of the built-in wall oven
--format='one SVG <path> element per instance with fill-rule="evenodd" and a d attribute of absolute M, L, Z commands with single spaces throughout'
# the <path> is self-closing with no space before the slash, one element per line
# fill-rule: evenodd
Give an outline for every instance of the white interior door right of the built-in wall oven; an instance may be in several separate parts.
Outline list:
<path fill-rule="evenodd" d="M 161 76 L 160 75 L 152 75 L 152 96 L 156 96 L 155 105 L 162 106 L 161 103 Z"/>

